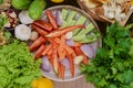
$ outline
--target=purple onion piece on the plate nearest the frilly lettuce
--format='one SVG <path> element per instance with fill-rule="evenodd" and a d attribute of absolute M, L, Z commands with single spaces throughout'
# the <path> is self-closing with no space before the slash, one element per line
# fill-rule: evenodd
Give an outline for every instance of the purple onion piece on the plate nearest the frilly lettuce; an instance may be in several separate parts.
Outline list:
<path fill-rule="evenodd" d="M 50 72 L 51 70 L 51 65 L 50 65 L 50 62 L 49 62 L 47 56 L 42 57 L 41 68 L 44 72 Z"/>

